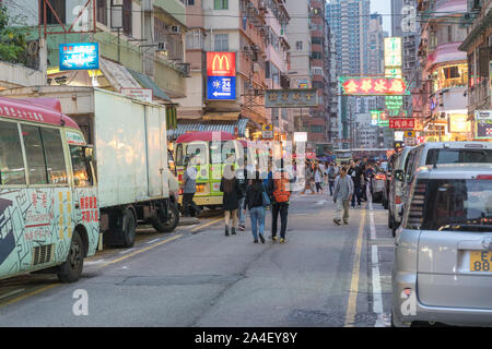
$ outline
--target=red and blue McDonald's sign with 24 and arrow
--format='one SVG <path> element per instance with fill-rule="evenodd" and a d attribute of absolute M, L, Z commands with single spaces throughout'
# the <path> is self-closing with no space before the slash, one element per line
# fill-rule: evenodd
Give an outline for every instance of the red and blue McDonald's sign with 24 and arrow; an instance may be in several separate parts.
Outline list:
<path fill-rule="evenodd" d="M 236 99 L 235 52 L 207 52 L 207 99 Z"/>

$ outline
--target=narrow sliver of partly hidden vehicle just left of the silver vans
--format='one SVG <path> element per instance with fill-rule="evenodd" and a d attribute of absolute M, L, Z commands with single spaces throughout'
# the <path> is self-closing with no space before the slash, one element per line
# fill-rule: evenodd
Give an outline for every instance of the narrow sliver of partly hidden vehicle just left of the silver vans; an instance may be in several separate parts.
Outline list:
<path fill-rule="evenodd" d="M 389 182 L 388 195 L 388 227 L 395 237 L 396 229 L 400 226 L 403 214 L 403 183 L 408 154 L 413 147 L 405 147 L 395 154 L 393 159 L 391 181 Z"/>

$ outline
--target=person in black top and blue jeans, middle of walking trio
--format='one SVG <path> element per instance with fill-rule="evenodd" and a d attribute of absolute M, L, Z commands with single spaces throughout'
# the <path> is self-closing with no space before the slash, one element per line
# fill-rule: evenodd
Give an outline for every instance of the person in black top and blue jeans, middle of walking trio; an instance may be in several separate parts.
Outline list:
<path fill-rule="evenodd" d="M 246 189 L 246 197 L 244 202 L 244 209 L 249 209 L 251 232 L 255 243 L 258 243 L 258 237 L 261 240 L 261 243 L 265 243 L 265 206 L 268 204 L 268 201 L 266 202 L 263 198 L 266 194 L 267 191 L 265 189 L 263 181 L 260 179 L 260 173 L 256 172 L 255 179 Z"/>

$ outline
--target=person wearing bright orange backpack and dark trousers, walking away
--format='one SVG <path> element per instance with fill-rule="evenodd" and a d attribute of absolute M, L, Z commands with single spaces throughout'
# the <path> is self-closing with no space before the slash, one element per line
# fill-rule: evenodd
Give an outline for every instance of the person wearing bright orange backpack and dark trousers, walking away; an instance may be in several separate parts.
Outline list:
<path fill-rule="evenodd" d="M 277 221 L 280 214 L 280 243 L 285 242 L 288 214 L 291 197 L 291 181 L 288 172 L 280 173 L 279 179 L 272 179 L 268 184 L 268 192 L 272 197 L 271 208 L 271 239 L 277 241 Z"/>

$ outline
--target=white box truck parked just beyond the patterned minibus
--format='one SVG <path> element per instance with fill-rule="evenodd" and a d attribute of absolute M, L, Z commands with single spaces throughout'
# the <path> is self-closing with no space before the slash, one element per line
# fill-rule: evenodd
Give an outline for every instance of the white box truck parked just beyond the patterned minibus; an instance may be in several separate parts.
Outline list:
<path fill-rule="evenodd" d="M 1 95 L 56 98 L 61 112 L 78 123 L 93 146 L 104 244 L 132 246 L 138 222 L 159 232 L 176 228 L 179 188 L 168 169 L 163 106 L 94 87 L 21 87 Z"/>

